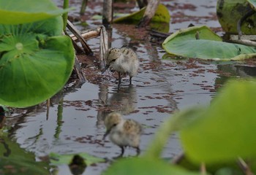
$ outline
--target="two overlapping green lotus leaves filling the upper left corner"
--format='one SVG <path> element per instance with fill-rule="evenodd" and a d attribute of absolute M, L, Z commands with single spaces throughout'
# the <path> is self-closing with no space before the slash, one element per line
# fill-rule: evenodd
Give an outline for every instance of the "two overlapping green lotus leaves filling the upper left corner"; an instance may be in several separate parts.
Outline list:
<path fill-rule="evenodd" d="M 0 104 L 25 107 L 56 94 L 69 79 L 75 52 L 62 36 L 50 0 L 0 0 Z"/>

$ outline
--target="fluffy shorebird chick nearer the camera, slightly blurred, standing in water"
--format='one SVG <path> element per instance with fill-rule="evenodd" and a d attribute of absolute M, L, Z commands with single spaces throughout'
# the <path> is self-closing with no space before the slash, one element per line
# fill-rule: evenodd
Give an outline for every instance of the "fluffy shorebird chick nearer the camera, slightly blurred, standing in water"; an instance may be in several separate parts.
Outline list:
<path fill-rule="evenodd" d="M 110 141 L 121 148 L 121 154 L 118 157 L 124 155 L 125 147 L 134 147 L 137 150 L 137 155 L 140 154 L 139 144 L 140 134 L 142 133 L 140 123 L 131 119 L 125 120 L 121 114 L 112 112 L 105 117 L 104 124 L 107 131 L 103 139 L 109 135 Z"/>

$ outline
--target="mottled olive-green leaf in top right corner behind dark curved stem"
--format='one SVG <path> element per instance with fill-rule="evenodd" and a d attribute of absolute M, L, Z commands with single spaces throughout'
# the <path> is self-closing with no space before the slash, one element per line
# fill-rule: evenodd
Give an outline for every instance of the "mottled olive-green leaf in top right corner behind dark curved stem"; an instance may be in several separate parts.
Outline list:
<path fill-rule="evenodd" d="M 251 7 L 255 8 L 255 0 L 225 0 L 217 1 L 217 17 L 222 29 L 227 33 L 238 34 L 237 22 Z M 256 34 L 256 14 L 250 16 L 241 25 L 243 34 Z"/>

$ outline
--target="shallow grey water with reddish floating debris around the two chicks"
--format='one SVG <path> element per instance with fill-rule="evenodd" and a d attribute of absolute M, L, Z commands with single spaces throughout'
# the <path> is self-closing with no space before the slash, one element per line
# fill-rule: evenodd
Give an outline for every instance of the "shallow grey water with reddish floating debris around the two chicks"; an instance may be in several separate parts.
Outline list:
<path fill-rule="evenodd" d="M 60 3 L 59 1 L 56 1 Z M 78 4 L 78 1 L 73 1 Z M 216 1 L 163 1 L 170 9 L 173 23 L 170 32 L 186 28 L 189 23 L 219 28 L 215 16 Z M 191 6 L 192 4 L 192 6 Z M 186 7 L 185 9 L 175 9 Z M 191 7 L 191 8 L 188 8 Z M 173 9 L 173 10 L 172 10 Z M 89 14 L 97 12 L 90 4 Z M 78 10 L 72 15 L 78 15 Z M 187 19 L 187 20 L 186 20 Z M 99 21 L 88 20 L 94 28 Z M 189 106 L 208 105 L 217 95 L 217 90 L 227 79 L 255 76 L 255 68 L 246 63 L 213 63 L 195 59 L 162 59 L 165 51 L 150 37 L 136 39 L 121 25 L 113 25 L 112 47 L 129 44 L 135 47 L 140 58 L 140 71 L 129 85 L 124 78 L 118 88 L 111 72 L 102 75 L 94 61 L 86 62 L 83 71 L 87 81 L 83 85 L 70 82 L 62 93 L 51 99 L 47 116 L 46 104 L 31 109 L 13 111 L 7 117 L 10 125 L 9 136 L 27 152 L 33 152 L 36 160 L 50 152 L 60 154 L 88 152 L 99 158 L 111 159 L 120 149 L 108 139 L 102 141 L 105 133 L 103 118 L 116 110 L 124 117 L 143 124 L 144 133 L 140 148 L 145 152 L 159 125 L 164 123 L 176 110 Z M 131 26 L 131 30 L 135 30 Z M 78 28 L 83 29 L 82 26 Z M 129 31 L 129 29 L 128 29 Z M 136 31 L 136 30 L 135 30 Z M 222 31 L 217 30 L 222 34 Z M 89 40 L 95 52 L 99 50 L 99 39 Z M 181 152 L 178 135 L 170 136 L 164 158 L 173 158 Z M 124 156 L 135 155 L 134 149 L 126 149 Z M 101 174 L 109 163 L 97 163 L 86 168 L 84 174 Z M 71 174 L 68 166 L 59 166 L 56 174 Z M 50 170 L 53 171 L 53 170 Z"/>

